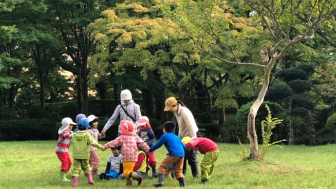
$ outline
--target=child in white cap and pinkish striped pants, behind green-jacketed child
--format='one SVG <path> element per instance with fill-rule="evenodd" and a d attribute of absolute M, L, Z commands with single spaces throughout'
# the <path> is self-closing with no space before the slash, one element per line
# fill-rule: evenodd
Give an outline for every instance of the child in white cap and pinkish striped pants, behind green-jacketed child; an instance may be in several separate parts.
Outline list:
<path fill-rule="evenodd" d="M 98 142 L 98 139 L 104 138 L 105 136 L 101 135 L 97 129 L 98 126 L 98 117 L 95 115 L 89 115 L 86 120 L 89 122 L 91 129 L 89 133 L 93 137 L 94 141 Z M 92 175 L 97 176 L 99 170 L 99 157 L 97 154 L 97 149 L 93 146 L 90 147 L 90 166 L 92 167 Z"/>

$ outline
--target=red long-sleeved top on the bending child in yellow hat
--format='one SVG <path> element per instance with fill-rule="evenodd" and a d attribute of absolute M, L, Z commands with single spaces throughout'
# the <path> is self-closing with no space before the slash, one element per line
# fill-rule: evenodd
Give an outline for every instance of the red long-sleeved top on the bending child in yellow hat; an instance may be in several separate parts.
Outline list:
<path fill-rule="evenodd" d="M 196 148 L 202 154 L 205 154 L 209 151 L 218 151 L 218 146 L 215 142 L 208 138 L 197 137 L 192 139 L 190 142 L 186 144 L 187 148 Z"/>

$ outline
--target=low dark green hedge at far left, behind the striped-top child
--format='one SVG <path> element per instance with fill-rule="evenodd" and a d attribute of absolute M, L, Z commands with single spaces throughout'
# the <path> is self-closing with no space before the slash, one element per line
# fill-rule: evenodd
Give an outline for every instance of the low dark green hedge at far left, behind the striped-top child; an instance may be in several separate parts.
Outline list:
<path fill-rule="evenodd" d="M 2 120 L 0 140 L 56 140 L 59 126 L 51 119 Z"/>

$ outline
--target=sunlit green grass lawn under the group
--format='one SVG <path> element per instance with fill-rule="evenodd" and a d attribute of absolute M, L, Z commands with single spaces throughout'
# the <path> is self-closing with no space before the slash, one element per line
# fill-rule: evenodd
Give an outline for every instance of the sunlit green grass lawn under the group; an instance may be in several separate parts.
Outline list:
<path fill-rule="evenodd" d="M 209 183 L 199 185 L 199 180 L 192 179 L 188 166 L 186 189 L 324 189 L 336 186 L 336 145 L 273 147 L 266 154 L 265 162 L 242 161 L 240 145 L 218 145 L 220 156 Z M 56 141 L 0 142 L 0 188 L 70 188 L 71 182 L 58 180 L 60 161 L 55 147 Z M 164 147 L 156 151 L 158 164 L 166 153 Z M 98 151 L 98 154 L 99 172 L 103 172 L 111 151 Z M 198 158 L 201 161 L 203 155 L 198 154 Z M 67 174 L 67 178 L 70 177 L 71 171 Z M 82 173 L 78 188 L 125 188 L 126 184 L 125 180 L 93 179 L 95 185 L 91 186 Z M 133 188 L 154 188 L 152 184 L 156 182 L 157 179 L 149 177 L 139 187 L 134 181 Z M 180 187 L 177 180 L 166 178 L 163 188 Z"/>

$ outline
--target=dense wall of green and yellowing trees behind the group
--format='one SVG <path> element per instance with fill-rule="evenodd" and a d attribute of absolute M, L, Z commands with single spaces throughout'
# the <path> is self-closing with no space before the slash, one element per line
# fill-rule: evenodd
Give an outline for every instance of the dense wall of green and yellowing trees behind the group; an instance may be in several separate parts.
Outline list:
<path fill-rule="evenodd" d="M 130 89 L 158 137 L 172 118 L 164 101 L 176 96 L 218 142 L 247 143 L 247 116 L 258 102 L 257 142 L 267 104 L 283 120 L 272 141 L 335 143 L 335 6 L 334 0 L 0 2 L 0 140 L 56 139 L 60 120 L 77 113 L 99 116 L 101 127 L 120 91 Z M 109 139 L 116 135 L 111 130 Z"/>

